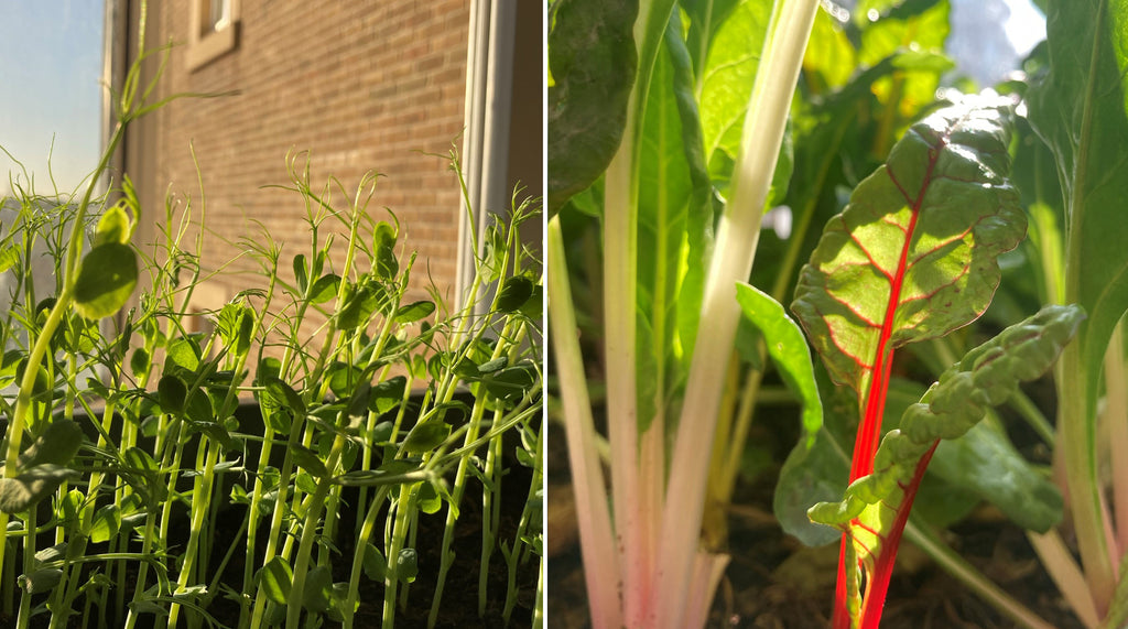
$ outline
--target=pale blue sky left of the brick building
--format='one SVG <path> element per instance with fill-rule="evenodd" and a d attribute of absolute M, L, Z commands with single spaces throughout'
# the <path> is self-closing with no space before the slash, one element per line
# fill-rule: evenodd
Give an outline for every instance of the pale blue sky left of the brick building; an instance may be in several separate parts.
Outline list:
<path fill-rule="evenodd" d="M 102 129 L 103 0 L 7 1 L 0 8 L 0 145 L 51 192 L 47 152 L 60 192 L 98 160 Z M 0 193 L 15 165 L 0 153 Z"/>

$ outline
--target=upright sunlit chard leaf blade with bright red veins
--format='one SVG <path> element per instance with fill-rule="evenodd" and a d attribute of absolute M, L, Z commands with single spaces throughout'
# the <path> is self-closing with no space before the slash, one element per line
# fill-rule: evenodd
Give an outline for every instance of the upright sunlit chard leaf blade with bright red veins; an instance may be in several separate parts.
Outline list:
<path fill-rule="evenodd" d="M 976 99 L 913 125 L 827 223 L 792 310 L 831 378 L 865 399 L 896 347 L 978 318 L 1025 218 L 1004 178 L 1008 105 Z"/>

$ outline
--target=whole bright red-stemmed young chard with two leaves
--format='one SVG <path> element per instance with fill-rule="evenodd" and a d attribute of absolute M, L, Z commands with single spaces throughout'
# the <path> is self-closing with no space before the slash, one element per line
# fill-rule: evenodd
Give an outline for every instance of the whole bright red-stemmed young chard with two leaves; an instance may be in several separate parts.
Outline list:
<path fill-rule="evenodd" d="M 881 441 L 893 352 L 976 320 L 999 283 L 997 258 L 1025 234 L 1007 183 L 1010 104 L 969 98 L 913 125 L 858 184 L 803 267 L 792 310 L 861 424 L 840 503 L 810 510 L 843 530 L 834 627 L 876 628 L 901 532 L 941 438 L 1052 364 L 1076 307 L 1051 307 L 973 349 Z M 879 448 L 879 442 L 881 446 Z"/>

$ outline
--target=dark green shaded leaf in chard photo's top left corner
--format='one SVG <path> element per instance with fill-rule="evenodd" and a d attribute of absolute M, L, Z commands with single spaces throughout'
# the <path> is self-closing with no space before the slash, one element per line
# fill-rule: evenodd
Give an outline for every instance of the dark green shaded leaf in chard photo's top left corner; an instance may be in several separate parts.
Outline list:
<path fill-rule="evenodd" d="M 636 0 L 561 0 L 548 33 L 549 214 L 587 188 L 619 148 L 638 55 Z"/>

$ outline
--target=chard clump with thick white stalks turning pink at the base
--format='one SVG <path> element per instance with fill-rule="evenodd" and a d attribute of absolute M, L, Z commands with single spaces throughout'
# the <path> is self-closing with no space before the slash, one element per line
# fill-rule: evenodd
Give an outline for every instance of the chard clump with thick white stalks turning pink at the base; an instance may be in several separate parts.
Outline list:
<path fill-rule="evenodd" d="M 817 8 L 552 7 L 550 337 L 596 627 L 707 618 L 728 562 L 723 544 L 702 543 L 702 529 L 723 512 L 707 489 L 714 444 L 735 434 L 717 418 L 733 392 L 738 290 L 746 311 L 783 335 L 770 339 L 785 345 L 773 356 L 813 391 L 797 329 L 769 296 L 738 285 L 764 211 L 786 187 L 786 119 Z M 589 239 L 598 239 L 592 257 L 582 255 Z M 584 352 L 580 327 L 601 349 Z M 606 399 L 592 400 L 592 366 L 606 374 Z M 818 397 L 807 399 L 817 414 Z M 607 415 L 609 502 L 593 405 Z"/>

